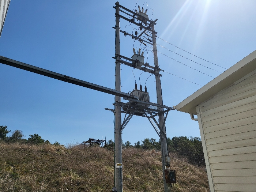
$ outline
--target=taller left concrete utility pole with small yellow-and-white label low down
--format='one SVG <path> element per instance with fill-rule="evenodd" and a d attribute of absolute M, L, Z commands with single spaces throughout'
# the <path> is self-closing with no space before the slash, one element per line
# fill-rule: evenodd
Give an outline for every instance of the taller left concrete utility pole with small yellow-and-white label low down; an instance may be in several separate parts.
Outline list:
<path fill-rule="evenodd" d="M 119 2 L 116 2 L 119 4 Z M 116 14 L 119 14 L 119 6 L 116 6 Z M 116 54 L 120 54 L 120 18 L 116 16 Z M 121 91 L 121 78 L 120 78 L 120 57 L 116 57 L 116 88 Z M 121 130 L 121 97 L 115 96 L 115 183 L 117 192 L 123 192 L 123 168 L 122 168 L 122 130 Z"/>

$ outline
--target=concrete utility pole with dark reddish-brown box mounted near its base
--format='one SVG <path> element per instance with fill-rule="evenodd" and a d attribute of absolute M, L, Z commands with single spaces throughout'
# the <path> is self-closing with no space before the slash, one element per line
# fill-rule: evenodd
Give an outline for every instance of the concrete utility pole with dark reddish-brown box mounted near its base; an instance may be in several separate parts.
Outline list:
<path fill-rule="evenodd" d="M 155 25 L 153 24 L 152 30 L 155 31 Z M 155 68 L 158 68 L 158 57 L 157 57 L 157 43 L 156 43 L 156 37 L 155 33 L 152 33 L 153 37 L 153 53 L 154 53 L 154 64 Z M 159 73 L 159 71 L 156 71 L 156 73 Z M 159 75 L 155 75 L 155 83 L 157 87 L 157 104 L 163 105 L 163 99 L 162 99 L 162 87 L 161 87 L 161 80 Z M 163 109 L 162 109 L 163 110 Z M 165 182 L 165 166 L 169 167 L 169 162 L 166 162 L 166 157 L 169 156 L 168 154 L 168 148 L 167 148 L 167 140 L 166 140 L 166 129 L 164 124 L 165 116 L 164 114 L 158 115 L 158 121 L 160 127 L 162 127 L 162 131 L 160 131 L 160 140 L 161 140 L 161 150 L 162 150 L 162 171 L 163 171 L 163 184 L 165 187 L 165 192 L 171 192 L 171 185 L 169 183 Z"/>

